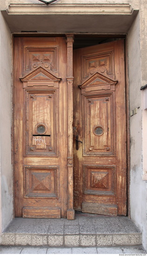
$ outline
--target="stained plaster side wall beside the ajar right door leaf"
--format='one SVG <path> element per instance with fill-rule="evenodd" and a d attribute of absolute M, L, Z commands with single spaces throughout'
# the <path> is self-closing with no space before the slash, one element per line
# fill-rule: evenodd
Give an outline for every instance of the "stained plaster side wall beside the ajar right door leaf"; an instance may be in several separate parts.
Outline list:
<path fill-rule="evenodd" d="M 130 171 L 130 213 L 131 219 L 143 233 L 143 245 L 146 247 L 146 211 L 147 188 L 142 180 L 142 100 L 140 87 L 141 59 L 140 59 L 140 27 L 139 14 L 128 32 L 129 59 L 129 94 L 130 110 L 137 108 L 137 114 L 130 117 L 131 134 L 131 171 Z"/>

